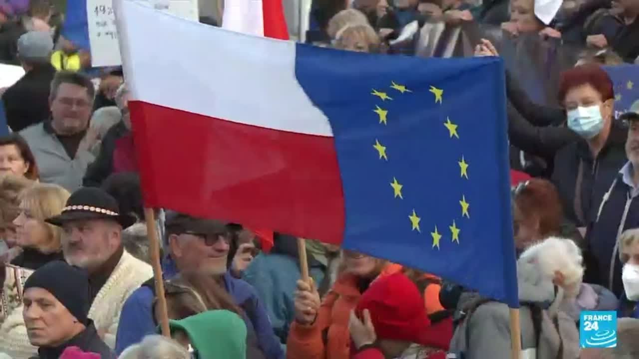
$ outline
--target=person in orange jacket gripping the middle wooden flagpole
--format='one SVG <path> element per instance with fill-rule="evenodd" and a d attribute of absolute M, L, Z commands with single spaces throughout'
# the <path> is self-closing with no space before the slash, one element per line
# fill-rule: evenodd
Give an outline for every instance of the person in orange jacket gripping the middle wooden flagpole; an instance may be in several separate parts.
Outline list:
<path fill-rule="evenodd" d="M 315 284 L 298 280 L 295 321 L 289 330 L 286 357 L 350 358 L 350 311 L 387 266 L 389 263 L 383 259 L 344 251 L 344 269 L 323 301 Z"/>

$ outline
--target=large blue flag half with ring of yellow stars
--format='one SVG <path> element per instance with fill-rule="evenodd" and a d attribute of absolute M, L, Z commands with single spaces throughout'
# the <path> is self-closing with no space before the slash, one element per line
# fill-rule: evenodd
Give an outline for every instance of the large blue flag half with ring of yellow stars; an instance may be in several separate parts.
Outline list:
<path fill-rule="evenodd" d="M 518 307 L 502 61 L 298 45 L 295 76 L 332 127 L 342 247 Z"/>

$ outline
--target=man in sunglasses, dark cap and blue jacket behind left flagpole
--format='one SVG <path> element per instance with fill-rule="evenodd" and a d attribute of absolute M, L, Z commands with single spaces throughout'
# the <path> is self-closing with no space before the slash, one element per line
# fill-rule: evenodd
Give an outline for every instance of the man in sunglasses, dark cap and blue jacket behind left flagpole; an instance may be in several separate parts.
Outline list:
<path fill-rule="evenodd" d="M 169 212 L 166 216 L 166 248 L 169 256 L 164 274 L 177 272 L 204 273 L 219 279 L 219 283 L 236 305 L 245 312 L 247 329 L 254 330 L 258 344 L 267 359 L 283 359 L 279 340 L 273 334 L 266 310 L 253 287 L 236 279 L 229 271 L 231 247 L 235 247 L 235 234 L 231 224 L 220 220 L 196 218 Z M 173 268 L 171 268 L 173 267 Z M 136 344 L 145 335 L 155 333 L 153 321 L 153 280 L 146 282 L 127 299 L 118 326 L 116 353 Z"/>

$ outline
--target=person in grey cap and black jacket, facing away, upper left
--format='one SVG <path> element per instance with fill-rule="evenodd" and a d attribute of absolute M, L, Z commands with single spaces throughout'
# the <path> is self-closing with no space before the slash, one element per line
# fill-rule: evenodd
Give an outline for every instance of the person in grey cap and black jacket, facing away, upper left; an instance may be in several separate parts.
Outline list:
<path fill-rule="evenodd" d="M 52 50 L 51 35 L 43 31 L 29 31 L 18 39 L 18 57 L 26 74 L 2 96 L 6 123 L 13 132 L 49 117 L 49 91 L 56 74 Z"/>

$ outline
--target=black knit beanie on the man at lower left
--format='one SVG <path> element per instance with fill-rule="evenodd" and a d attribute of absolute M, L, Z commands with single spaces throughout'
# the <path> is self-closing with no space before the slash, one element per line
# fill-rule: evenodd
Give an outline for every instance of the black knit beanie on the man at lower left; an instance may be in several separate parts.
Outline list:
<path fill-rule="evenodd" d="M 87 325 L 89 314 L 89 276 L 86 270 L 63 261 L 52 261 L 38 268 L 24 284 L 51 293 L 80 323 Z"/>

